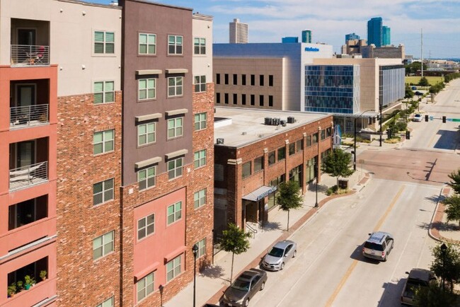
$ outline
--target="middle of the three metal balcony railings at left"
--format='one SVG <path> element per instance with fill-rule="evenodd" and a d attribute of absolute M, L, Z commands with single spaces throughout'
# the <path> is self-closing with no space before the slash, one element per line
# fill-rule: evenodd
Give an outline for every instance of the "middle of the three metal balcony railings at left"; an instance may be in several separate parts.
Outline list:
<path fill-rule="evenodd" d="M 49 105 L 27 105 L 10 108 L 10 127 L 19 129 L 38 124 L 47 124 Z"/>

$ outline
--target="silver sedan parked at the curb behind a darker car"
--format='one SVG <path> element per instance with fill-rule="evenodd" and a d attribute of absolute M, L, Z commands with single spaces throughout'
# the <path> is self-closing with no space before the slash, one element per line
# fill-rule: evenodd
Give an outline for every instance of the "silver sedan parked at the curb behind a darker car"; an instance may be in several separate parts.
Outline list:
<path fill-rule="evenodd" d="M 286 262 L 297 255 L 297 244 L 294 241 L 283 240 L 275 245 L 263 257 L 262 267 L 267 270 L 282 270 Z"/>

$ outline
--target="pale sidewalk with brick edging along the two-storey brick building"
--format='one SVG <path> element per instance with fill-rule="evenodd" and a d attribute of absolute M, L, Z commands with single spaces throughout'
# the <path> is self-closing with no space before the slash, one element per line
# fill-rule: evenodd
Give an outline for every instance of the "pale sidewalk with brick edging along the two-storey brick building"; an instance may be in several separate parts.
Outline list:
<path fill-rule="evenodd" d="M 369 174 L 366 170 L 360 168 L 350 176 L 348 186 L 352 187 L 350 193 L 359 192 L 368 182 Z M 268 214 L 268 222 L 265 226 L 255 234 L 255 238 L 250 239 L 251 248 L 246 253 L 235 255 L 234 257 L 234 272 L 233 277 L 244 270 L 251 267 L 257 267 L 260 258 L 268 252 L 277 241 L 289 238 L 289 236 L 297 231 L 311 216 L 318 213 L 326 202 L 336 197 L 350 195 L 331 195 L 324 194 L 328 187 L 336 184 L 336 178 L 332 178 L 326 174 L 321 175 L 321 182 L 318 185 L 318 208 L 315 208 L 316 202 L 316 185 L 309 186 L 309 190 L 304 196 L 304 205 L 300 209 L 291 210 L 289 214 L 289 231 L 287 227 L 287 212 L 280 209 L 272 209 Z M 227 286 L 229 286 L 231 272 L 231 253 L 220 251 L 214 256 L 214 265 L 207 268 L 205 271 L 198 273 L 196 277 L 196 306 L 202 306 L 205 303 L 219 304 L 219 299 L 222 297 Z M 163 303 L 164 307 L 188 307 L 192 306 L 193 298 L 193 283 L 180 291 L 170 301 Z"/>

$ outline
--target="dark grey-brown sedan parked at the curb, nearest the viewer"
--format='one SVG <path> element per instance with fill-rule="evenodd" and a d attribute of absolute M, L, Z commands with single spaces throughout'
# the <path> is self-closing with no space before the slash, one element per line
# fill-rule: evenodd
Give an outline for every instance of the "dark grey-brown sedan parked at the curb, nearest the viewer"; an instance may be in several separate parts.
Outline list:
<path fill-rule="evenodd" d="M 265 288 L 267 272 L 264 270 L 251 269 L 241 273 L 233 284 L 225 290 L 222 302 L 226 306 L 248 306 L 254 294 Z"/>

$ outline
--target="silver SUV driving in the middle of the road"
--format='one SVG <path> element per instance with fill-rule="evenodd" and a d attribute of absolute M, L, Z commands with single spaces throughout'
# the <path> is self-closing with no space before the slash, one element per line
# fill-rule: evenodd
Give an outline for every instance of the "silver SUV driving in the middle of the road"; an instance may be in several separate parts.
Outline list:
<path fill-rule="evenodd" d="M 369 233 L 369 238 L 364 242 L 362 255 L 364 257 L 386 261 L 391 250 L 393 250 L 394 239 L 390 233 L 377 231 Z"/>

